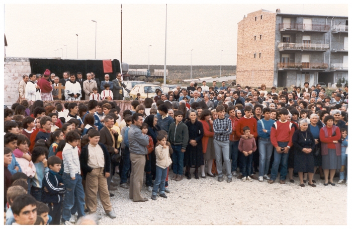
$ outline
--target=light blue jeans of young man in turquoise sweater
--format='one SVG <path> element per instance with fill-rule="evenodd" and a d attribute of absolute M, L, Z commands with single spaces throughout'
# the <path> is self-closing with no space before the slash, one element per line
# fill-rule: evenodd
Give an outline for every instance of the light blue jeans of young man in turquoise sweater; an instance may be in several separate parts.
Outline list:
<path fill-rule="evenodd" d="M 270 138 L 259 138 L 259 177 L 268 174 L 270 158 L 273 154 L 273 147 L 274 145 L 270 141 Z"/>

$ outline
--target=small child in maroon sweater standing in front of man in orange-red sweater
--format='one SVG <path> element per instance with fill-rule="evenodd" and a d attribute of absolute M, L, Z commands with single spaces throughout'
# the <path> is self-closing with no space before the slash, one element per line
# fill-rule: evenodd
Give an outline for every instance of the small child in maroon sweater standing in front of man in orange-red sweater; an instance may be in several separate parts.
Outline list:
<path fill-rule="evenodd" d="M 252 166 L 253 152 L 256 150 L 255 138 L 250 135 L 250 128 L 248 126 L 243 127 L 244 137 L 239 139 L 238 150 L 244 155 L 242 157 L 242 181 L 253 181 L 250 175 L 250 167 Z"/>

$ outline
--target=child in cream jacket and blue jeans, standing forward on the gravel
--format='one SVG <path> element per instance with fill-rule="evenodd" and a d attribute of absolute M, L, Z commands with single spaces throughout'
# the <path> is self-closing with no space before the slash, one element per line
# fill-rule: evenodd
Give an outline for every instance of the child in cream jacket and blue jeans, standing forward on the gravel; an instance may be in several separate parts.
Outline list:
<path fill-rule="evenodd" d="M 160 197 L 167 198 L 165 195 L 165 179 L 167 174 L 167 167 L 171 165 L 171 159 L 168 152 L 168 146 L 166 146 L 166 137 L 159 134 L 156 137 L 159 145 L 155 147 L 156 155 L 156 176 L 154 181 L 153 192 L 151 194 L 151 199 L 156 200 L 156 194 L 158 188 L 160 189 Z"/>

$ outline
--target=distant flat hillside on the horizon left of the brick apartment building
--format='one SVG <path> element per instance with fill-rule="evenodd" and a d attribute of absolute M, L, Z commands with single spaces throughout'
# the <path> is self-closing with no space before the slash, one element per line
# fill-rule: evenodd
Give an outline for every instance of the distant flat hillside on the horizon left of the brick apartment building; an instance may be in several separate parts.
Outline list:
<path fill-rule="evenodd" d="M 148 65 L 131 64 L 129 68 L 148 68 Z M 150 65 L 150 72 L 153 74 L 154 69 L 164 69 L 164 65 Z M 166 65 L 168 70 L 168 78 L 174 83 L 179 80 L 190 79 L 191 77 L 191 66 L 190 65 Z M 221 75 L 235 75 L 235 65 L 222 65 Z M 219 77 L 220 76 L 220 65 L 192 65 L 192 78 L 203 78 L 203 77 Z"/>

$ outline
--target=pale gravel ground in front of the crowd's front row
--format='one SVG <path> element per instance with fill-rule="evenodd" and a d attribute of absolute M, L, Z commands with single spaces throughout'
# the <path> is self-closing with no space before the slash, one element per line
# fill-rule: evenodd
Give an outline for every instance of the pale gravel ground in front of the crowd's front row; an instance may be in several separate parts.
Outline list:
<path fill-rule="evenodd" d="M 180 182 L 171 181 L 167 199 L 157 196 L 151 200 L 151 193 L 145 185 L 142 188 L 147 202 L 133 202 L 129 189 L 118 187 L 111 198 L 117 218 L 109 218 L 98 201 L 98 213 L 103 215 L 99 224 L 305 224 L 346 225 L 347 186 L 324 186 L 319 175 L 314 178 L 317 187 L 299 186 L 288 179 L 285 185 L 279 182 L 268 184 L 257 180 L 243 182 L 233 178 L 231 183 L 218 182 L 217 178 L 206 177 Z M 308 183 L 307 183 L 308 184 Z"/>

